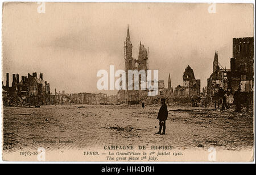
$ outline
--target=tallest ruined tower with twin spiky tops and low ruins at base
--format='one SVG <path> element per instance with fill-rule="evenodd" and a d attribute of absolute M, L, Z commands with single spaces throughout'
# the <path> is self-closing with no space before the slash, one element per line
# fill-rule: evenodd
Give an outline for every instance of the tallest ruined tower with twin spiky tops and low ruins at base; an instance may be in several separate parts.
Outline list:
<path fill-rule="evenodd" d="M 118 103 L 127 103 L 130 105 L 138 104 L 140 102 L 146 102 L 147 104 L 150 103 L 159 103 L 160 98 L 171 98 L 172 97 L 172 87 L 171 87 L 171 77 L 169 74 L 168 77 L 168 88 L 164 87 L 164 81 L 163 80 L 152 80 L 151 83 L 158 84 L 158 94 L 155 94 L 155 96 L 149 97 L 148 96 L 148 89 L 142 89 L 141 84 L 142 80 L 147 80 L 147 70 L 148 70 L 148 48 L 144 47 L 144 45 L 140 42 L 139 43 L 139 55 L 138 59 L 133 58 L 133 45 L 131 44 L 131 38 L 130 38 L 130 31 L 129 27 L 127 28 L 127 35 L 126 35 L 126 41 L 125 41 L 125 47 L 124 47 L 124 58 L 125 58 L 125 72 L 126 72 L 126 83 L 128 84 L 128 72 L 129 70 L 144 70 L 146 73 L 146 77 L 142 77 L 141 74 L 139 74 L 138 82 L 135 82 L 135 79 L 133 79 L 133 90 L 119 90 L 118 91 Z M 134 78 L 134 77 L 133 77 Z M 134 90 L 134 84 L 138 83 L 139 89 Z M 126 85 L 128 87 L 128 85 Z"/>

